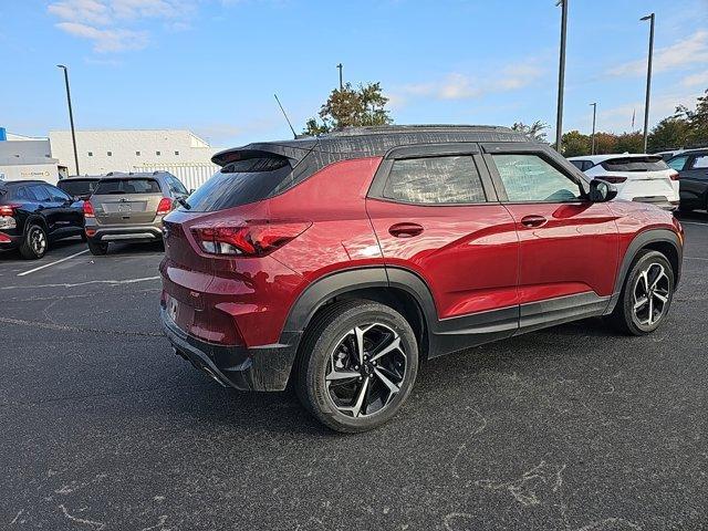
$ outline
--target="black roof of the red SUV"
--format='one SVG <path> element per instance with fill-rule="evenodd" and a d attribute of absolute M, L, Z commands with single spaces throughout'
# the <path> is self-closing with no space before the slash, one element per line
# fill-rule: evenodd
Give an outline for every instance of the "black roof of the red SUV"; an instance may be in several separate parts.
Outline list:
<path fill-rule="evenodd" d="M 321 136 L 305 136 L 292 140 L 260 142 L 217 153 L 211 160 L 219 166 L 275 154 L 302 160 L 312 153 L 323 164 L 344 158 L 381 157 L 389 149 L 413 144 L 445 144 L 450 142 L 529 142 L 519 132 L 490 125 L 386 125 L 347 127 Z"/>

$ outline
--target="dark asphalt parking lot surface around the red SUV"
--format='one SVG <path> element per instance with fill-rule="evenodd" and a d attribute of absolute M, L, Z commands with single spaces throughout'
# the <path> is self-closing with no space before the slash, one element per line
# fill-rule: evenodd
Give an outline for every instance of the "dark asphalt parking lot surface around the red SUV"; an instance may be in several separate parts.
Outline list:
<path fill-rule="evenodd" d="M 708 216 L 683 220 L 655 334 L 589 320 L 437 358 L 355 436 L 174 355 L 158 249 L 0 254 L 0 529 L 708 529 Z"/>

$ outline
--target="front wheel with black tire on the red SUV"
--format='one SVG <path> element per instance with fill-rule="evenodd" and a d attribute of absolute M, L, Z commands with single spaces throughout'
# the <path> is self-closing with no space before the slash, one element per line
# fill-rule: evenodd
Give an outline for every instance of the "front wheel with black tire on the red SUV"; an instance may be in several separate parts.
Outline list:
<path fill-rule="evenodd" d="M 660 277 L 659 272 L 664 277 Z M 645 273 L 647 280 L 643 278 Z M 647 293 L 646 296 L 642 296 L 645 283 Z M 652 288 L 652 284 L 655 287 Z M 615 330 L 628 335 L 650 334 L 668 314 L 674 298 L 674 271 L 666 257 L 649 249 L 639 251 L 624 281 L 620 300 L 608 315 L 610 323 Z M 666 301 L 662 302 L 659 298 Z M 639 305 L 644 299 L 646 302 Z M 660 312 L 657 310 L 659 305 Z"/>

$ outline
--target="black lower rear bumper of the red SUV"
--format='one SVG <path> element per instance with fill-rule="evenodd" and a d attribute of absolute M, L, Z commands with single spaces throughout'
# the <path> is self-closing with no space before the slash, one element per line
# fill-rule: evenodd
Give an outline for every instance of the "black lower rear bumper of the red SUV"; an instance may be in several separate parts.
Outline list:
<path fill-rule="evenodd" d="M 288 385 L 300 334 L 292 334 L 289 344 L 249 348 L 217 345 L 187 334 L 177 326 L 164 305 L 160 308 L 160 321 L 175 352 L 225 387 L 283 391 Z"/>

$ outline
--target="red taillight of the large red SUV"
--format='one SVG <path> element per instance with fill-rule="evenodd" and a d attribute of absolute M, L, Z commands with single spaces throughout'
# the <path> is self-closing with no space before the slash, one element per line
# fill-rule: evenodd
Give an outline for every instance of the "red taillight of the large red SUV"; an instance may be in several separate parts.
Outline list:
<path fill-rule="evenodd" d="M 209 254 L 264 257 L 302 235 L 310 221 L 249 221 L 241 226 L 192 227 L 191 233 Z"/>

